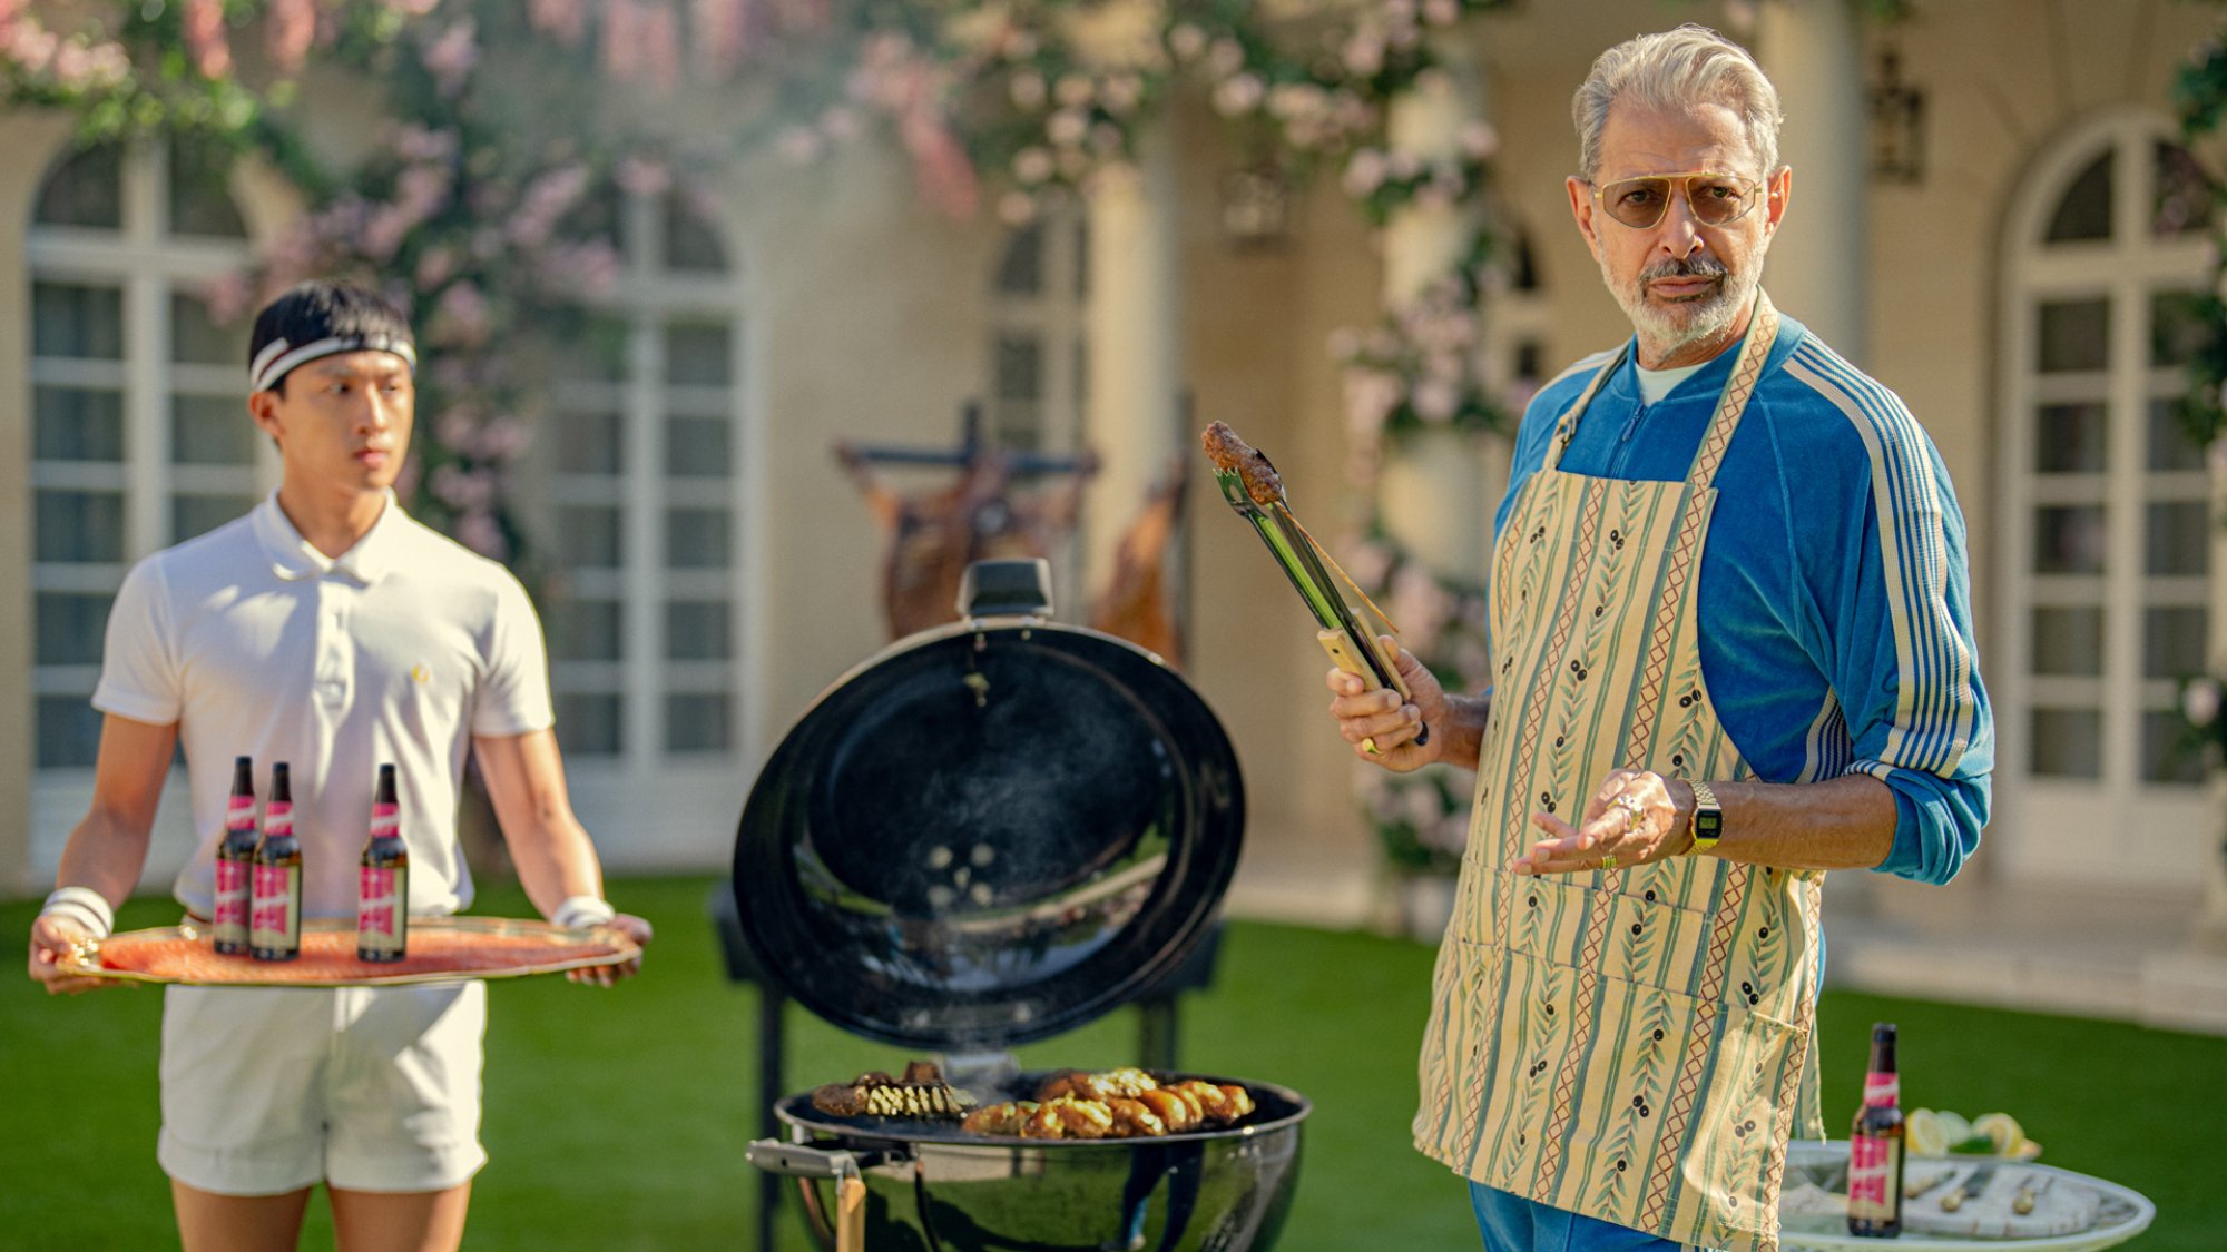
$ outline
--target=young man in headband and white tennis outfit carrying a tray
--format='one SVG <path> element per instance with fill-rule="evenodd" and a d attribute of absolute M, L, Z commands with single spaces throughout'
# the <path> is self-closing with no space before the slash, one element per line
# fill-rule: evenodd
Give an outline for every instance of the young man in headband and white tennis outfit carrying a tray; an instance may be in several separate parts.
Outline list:
<path fill-rule="evenodd" d="M 58 960 L 105 936 L 138 882 L 174 749 L 200 838 L 176 882 L 194 916 L 212 913 L 238 755 L 258 789 L 269 762 L 292 769 L 303 918 L 354 916 L 381 762 L 403 777 L 410 911 L 463 909 L 454 820 L 470 753 L 534 904 L 648 942 L 648 922 L 604 902 L 572 815 L 526 588 L 394 499 L 414 368 L 403 316 L 361 287 L 303 283 L 256 316 L 247 412 L 278 446 L 281 483 L 247 517 L 134 566 L 116 595 L 94 804 L 31 927 L 31 978 L 49 991 L 100 985 Z M 485 1163 L 483 1031 L 483 982 L 169 987 L 158 1158 L 187 1252 L 294 1248 L 318 1181 L 343 1248 L 457 1248 Z"/>

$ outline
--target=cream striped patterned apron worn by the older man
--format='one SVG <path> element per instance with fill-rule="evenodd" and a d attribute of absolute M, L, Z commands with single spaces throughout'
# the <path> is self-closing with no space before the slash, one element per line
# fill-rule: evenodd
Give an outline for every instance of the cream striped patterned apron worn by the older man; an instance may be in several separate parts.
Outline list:
<path fill-rule="evenodd" d="M 1492 552 L 1492 717 L 1432 978 L 1416 1147 L 1532 1201 L 1733 1252 L 1777 1245 L 1795 1129 L 1822 1134 L 1811 1025 L 1824 876 L 1672 858 L 1519 878 L 1617 766 L 1742 780 L 1701 679 L 1710 486 L 1777 336 L 1755 319 L 1684 481 L 1559 470 L 1561 414 Z"/>

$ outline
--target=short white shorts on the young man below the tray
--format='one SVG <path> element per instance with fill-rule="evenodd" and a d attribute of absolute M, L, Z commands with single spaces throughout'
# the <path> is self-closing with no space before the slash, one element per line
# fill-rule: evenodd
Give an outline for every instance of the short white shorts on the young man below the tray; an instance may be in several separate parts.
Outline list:
<path fill-rule="evenodd" d="M 485 1031 L 485 982 L 167 987 L 156 1158 L 229 1196 L 454 1187 L 488 1163 Z"/>

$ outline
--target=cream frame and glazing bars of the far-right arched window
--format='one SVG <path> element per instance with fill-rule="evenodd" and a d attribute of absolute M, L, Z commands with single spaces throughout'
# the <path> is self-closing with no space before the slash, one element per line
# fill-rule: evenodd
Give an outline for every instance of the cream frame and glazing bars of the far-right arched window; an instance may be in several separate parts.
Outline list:
<path fill-rule="evenodd" d="M 1995 702 L 1995 815 L 1989 831 L 1995 871 L 2009 880 L 2082 880 L 2127 887 L 2187 887 L 2216 840 L 2203 786 L 2142 782 L 2142 715 L 2171 706 L 2171 679 L 2142 675 L 2142 610 L 2209 606 L 2209 579 L 2154 579 L 2145 573 L 2142 528 L 2151 499 L 2209 499 L 2200 470 L 2169 497 L 2151 488 L 2167 477 L 2147 468 L 2149 403 L 2187 390 L 2182 368 L 2149 365 L 2151 296 L 2203 290 L 2211 278 L 2209 234 L 2156 238 L 2151 151 L 2178 143 L 2165 118 L 2145 109 L 2111 109 L 2062 134 L 2020 180 L 2004 223 L 2000 370 L 2002 457 L 1998 470 L 1998 604 L 2000 664 L 1989 666 Z M 2113 160 L 2111 238 L 2053 243 L 2042 238 L 2071 180 L 2105 149 Z M 2096 575 L 2033 573 L 2033 510 L 2091 503 L 2093 492 L 2038 481 L 2035 405 L 2058 392 L 2091 399 L 2093 374 L 2038 372 L 2038 305 L 2064 299 L 2109 299 L 2109 363 L 2100 379 L 2109 443 L 2102 501 L 2107 555 Z M 2087 383 L 2082 390 L 2080 383 Z M 2080 390 L 2078 397 L 2071 392 Z M 2174 475 L 2178 479 L 2178 475 Z M 2182 490 L 2185 488 L 2185 490 Z M 2214 552 L 2218 544 L 2214 541 Z M 2220 570 L 2211 570 L 2218 577 Z M 2187 584 L 2187 586 L 2180 586 Z M 2096 604 L 2105 608 L 2105 659 L 2098 677 L 2033 675 L 2033 608 Z M 2029 717 L 2047 697 L 2102 711 L 2102 777 L 2033 775 Z"/>

